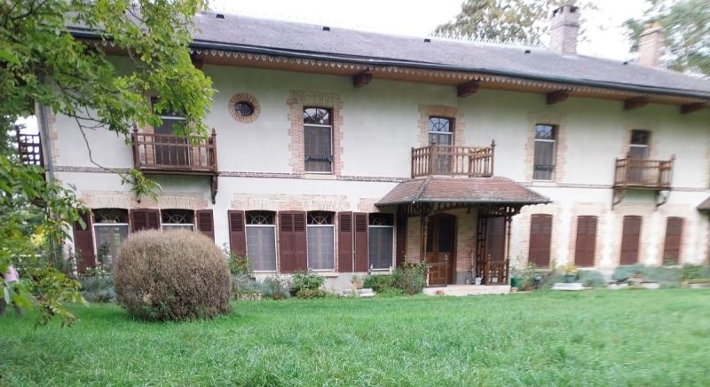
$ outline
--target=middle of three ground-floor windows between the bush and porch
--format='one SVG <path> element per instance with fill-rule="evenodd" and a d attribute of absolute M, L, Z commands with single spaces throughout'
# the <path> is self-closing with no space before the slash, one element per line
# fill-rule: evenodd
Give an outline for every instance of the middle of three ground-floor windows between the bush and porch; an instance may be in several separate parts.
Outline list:
<path fill-rule="evenodd" d="M 335 269 L 335 225 L 333 213 L 311 211 L 308 213 L 306 235 L 308 239 L 308 268 L 311 270 Z"/>

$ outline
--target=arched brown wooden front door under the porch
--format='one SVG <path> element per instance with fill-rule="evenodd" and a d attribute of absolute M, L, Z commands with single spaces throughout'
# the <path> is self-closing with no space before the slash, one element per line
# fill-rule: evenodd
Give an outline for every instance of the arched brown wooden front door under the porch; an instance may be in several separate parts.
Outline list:
<path fill-rule="evenodd" d="M 429 218 L 426 262 L 430 267 L 430 286 L 453 283 L 455 219 L 446 214 Z"/>

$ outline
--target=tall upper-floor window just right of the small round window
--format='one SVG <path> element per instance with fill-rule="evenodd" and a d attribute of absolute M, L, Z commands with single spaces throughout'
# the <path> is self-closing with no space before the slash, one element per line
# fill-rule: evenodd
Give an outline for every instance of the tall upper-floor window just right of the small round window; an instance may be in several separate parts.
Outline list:
<path fill-rule="evenodd" d="M 333 172 L 333 121 L 330 109 L 304 108 L 306 172 Z"/>

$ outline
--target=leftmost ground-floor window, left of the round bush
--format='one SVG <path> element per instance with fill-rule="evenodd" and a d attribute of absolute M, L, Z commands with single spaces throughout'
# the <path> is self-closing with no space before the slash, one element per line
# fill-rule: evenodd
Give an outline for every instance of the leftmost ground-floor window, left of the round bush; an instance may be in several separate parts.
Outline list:
<path fill-rule="evenodd" d="M 100 265 L 112 267 L 123 240 L 128 238 L 128 210 L 94 209 L 93 216 L 96 257 Z"/>

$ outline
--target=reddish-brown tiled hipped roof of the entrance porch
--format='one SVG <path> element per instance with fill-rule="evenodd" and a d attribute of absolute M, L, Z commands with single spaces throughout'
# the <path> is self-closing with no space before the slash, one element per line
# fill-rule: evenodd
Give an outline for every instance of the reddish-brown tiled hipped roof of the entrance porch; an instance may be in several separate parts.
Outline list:
<path fill-rule="evenodd" d="M 414 203 L 545 204 L 548 198 L 509 178 L 413 178 L 399 183 L 376 206 Z"/>

